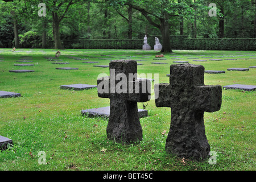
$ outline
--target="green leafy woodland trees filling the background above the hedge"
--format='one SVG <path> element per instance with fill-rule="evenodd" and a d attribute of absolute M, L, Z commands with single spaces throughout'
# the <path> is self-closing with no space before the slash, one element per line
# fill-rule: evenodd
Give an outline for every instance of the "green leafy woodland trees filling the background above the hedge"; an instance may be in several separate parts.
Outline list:
<path fill-rule="evenodd" d="M 38 16 L 39 3 L 46 16 Z M 209 16 L 209 3 L 216 4 L 216 16 Z M 24 46 L 28 35 L 56 49 L 63 48 L 61 40 L 147 35 L 171 52 L 170 35 L 256 38 L 256 0 L 0 0 L 0 27 L 1 47 Z"/>

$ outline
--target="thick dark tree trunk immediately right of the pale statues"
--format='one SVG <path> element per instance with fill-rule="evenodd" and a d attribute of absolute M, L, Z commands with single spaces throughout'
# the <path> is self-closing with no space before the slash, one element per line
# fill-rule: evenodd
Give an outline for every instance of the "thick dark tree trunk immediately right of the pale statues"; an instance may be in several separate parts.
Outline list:
<path fill-rule="evenodd" d="M 169 15 L 164 13 L 164 19 L 160 21 L 160 30 L 162 34 L 162 50 L 161 52 L 172 52 L 170 39 L 170 24 L 168 22 Z"/>

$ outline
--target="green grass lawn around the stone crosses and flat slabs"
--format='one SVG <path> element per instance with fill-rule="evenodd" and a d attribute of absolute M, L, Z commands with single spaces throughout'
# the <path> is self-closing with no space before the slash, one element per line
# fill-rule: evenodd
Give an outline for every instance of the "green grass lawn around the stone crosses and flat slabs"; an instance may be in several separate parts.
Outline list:
<path fill-rule="evenodd" d="M 20 52 L 19 52 L 20 51 Z M 109 75 L 110 60 L 101 55 L 133 56 L 138 61 L 138 74 L 159 73 L 159 82 L 169 82 L 171 56 L 180 56 L 205 70 L 226 71 L 227 68 L 256 66 L 254 51 L 179 51 L 164 54 L 167 60 L 153 60 L 156 51 L 114 49 L 65 49 L 61 56 L 67 65 L 51 64 L 43 56 L 55 56 L 55 49 L 0 49 L 0 90 L 21 93 L 22 97 L 0 99 L 0 135 L 13 139 L 13 146 L 0 152 L 0 170 L 255 170 L 255 108 L 256 91 L 222 90 L 219 111 L 205 113 L 205 131 L 211 150 L 217 152 L 217 163 L 208 160 L 180 159 L 167 154 L 164 147 L 170 129 L 171 109 L 156 107 L 155 101 L 144 103 L 148 117 L 141 118 L 143 140 L 138 144 L 123 145 L 106 138 L 108 119 L 86 118 L 82 109 L 109 106 L 109 99 L 99 98 L 97 88 L 83 91 L 63 90 L 60 85 L 97 85 L 100 73 Z M 20 56 L 32 56 L 34 67 L 16 67 Z M 148 55 L 148 56 L 143 56 Z M 187 55 L 208 60 L 196 62 Z M 235 57 L 227 57 L 227 56 Z M 242 55 L 242 56 L 241 56 Z M 97 64 L 82 63 L 65 56 L 81 58 Z M 108 57 L 107 56 L 107 57 Z M 225 56 L 222 58 L 215 56 Z M 213 59 L 237 59 L 209 61 Z M 1 60 L 1 58 L 0 58 Z M 151 64 L 166 62 L 168 65 Z M 20 63 L 21 64 L 21 63 Z M 57 70 L 73 67 L 79 70 Z M 12 69 L 32 69 L 32 73 L 10 73 Z M 225 74 L 205 74 L 205 85 L 256 85 L 256 69 L 247 72 L 226 71 Z M 153 82 L 154 84 L 154 82 Z M 142 103 L 138 103 L 143 109 Z M 166 134 L 162 134 L 166 130 Z M 46 152 L 46 165 L 39 165 L 38 152 Z"/>

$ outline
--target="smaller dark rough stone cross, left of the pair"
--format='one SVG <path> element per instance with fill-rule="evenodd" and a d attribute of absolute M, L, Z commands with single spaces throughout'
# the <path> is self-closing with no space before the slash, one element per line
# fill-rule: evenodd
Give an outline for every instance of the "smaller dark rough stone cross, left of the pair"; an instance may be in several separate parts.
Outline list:
<path fill-rule="evenodd" d="M 149 92 L 147 89 L 151 86 L 150 80 L 137 79 L 135 60 L 113 60 L 109 63 L 109 69 L 110 77 L 97 80 L 98 96 L 110 99 L 107 136 L 121 143 L 138 142 L 142 140 L 142 127 L 137 102 L 150 100 L 150 89 Z M 134 76 L 130 78 L 129 75 Z"/>

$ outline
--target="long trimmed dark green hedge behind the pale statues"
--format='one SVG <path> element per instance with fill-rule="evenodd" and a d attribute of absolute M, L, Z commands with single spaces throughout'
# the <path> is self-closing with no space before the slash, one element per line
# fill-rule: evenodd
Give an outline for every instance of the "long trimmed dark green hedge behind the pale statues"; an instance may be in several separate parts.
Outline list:
<path fill-rule="evenodd" d="M 159 38 L 160 42 L 161 38 Z M 148 44 L 154 49 L 155 38 L 148 38 Z M 96 40 L 63 40 L 64 48 L 84 49 L 142 49 L 143 39 L 96 39 Z M 190 39 L 188 36 L 171 36 L 172 49 L 189 50 L 233 50 L 255 51 L 256 39 L 224 38 L 224 39 Z"/>

